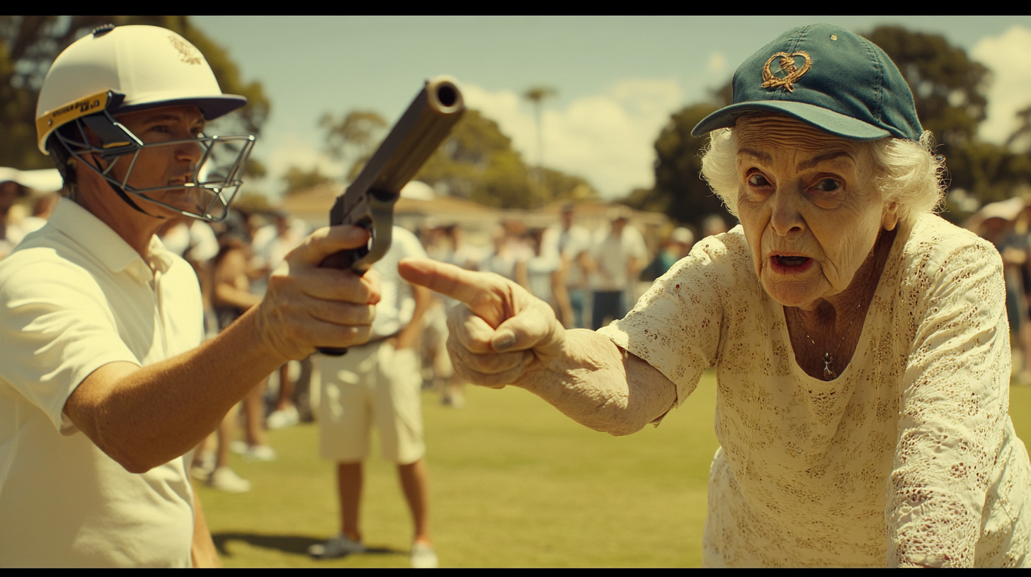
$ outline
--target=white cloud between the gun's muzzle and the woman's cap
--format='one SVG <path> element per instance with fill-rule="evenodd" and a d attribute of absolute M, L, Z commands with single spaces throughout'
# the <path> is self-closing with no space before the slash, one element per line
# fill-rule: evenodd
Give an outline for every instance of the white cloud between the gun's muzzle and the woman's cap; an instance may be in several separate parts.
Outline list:
<path fill-rule="evenodd" d="M 498 123 L 530 164 L 537 162 L 536 121 L 530 104 L 510 90 L 462 87 L 466 103 Z M 626 79 L 563 108 L 544 103 L 544 166 L 584 176 L 606 198 L 654 181 L 653 144 L 684 101 L 675 80 Z"/>

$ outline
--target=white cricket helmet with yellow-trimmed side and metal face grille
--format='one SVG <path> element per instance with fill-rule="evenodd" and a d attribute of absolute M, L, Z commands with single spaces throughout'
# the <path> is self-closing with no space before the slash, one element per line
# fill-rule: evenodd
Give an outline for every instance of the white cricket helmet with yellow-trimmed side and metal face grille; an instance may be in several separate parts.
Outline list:
<path fill-rule="evenodd" d="M 69 157 L 78 161 L 76 166 L 89 166 L 141 212 L 146 211 L 126 193 L 182 214 L 221 220 L 242 182 L 254 136 L 202 134 L 196 143 L 204 154 L 194 167 L 191 181 L 136 189 L 129 179 L 140 150 L 182 141 L 144 144 L 114 115 L 192 105 L 205 120 L 212 121 L 244 104 L 242 96 L 222 94 L 204 56 L 178 34 L 154 26 L 103 26 L 65 48 L 46 73 L 36 106 L 38 146 L 43 154 L 58 152 L 55 162 L 62 174 Z M 99 145 L 87 140 L 86 128 L 99 138 Z M 130 168 L 123 178 L 115 178 L 111 168 L 127 155 L 131 156 Z M 98 158 L 107 163 L 106 168 L 97 162 Z M 182 189 L 198 193 L 192 196 L 192 206 L 172 206 L 154 198 L 155 193 Z"/>

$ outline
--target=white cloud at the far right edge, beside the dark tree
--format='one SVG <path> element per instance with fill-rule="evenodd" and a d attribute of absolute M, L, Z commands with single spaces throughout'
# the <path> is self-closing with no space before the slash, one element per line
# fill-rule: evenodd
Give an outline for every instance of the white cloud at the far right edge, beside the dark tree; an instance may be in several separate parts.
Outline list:
<path fill-rule="evenodd" d="M 982 38 L 970 55 L 992 70 L 983 139 L 1002 143 L 1017 129 L 1016 112 L 1031 105 L 1031 29 L 1015 25 Z"/>

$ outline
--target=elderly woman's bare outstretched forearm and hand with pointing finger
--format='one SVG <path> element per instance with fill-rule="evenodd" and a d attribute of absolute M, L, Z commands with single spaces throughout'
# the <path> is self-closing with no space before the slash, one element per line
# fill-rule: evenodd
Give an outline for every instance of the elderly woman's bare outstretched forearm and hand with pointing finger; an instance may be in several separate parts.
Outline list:
<path fill-rule="evenodd" d="M 593 331 L 566 331 L 547 303 L 499 275 L 405 259 L 409 282 L 457 299 L 447 319 L 455 369 L 474 384 L 512 384 L 612 435 L 639 431 L 676 402 L 657 369 Z"/>

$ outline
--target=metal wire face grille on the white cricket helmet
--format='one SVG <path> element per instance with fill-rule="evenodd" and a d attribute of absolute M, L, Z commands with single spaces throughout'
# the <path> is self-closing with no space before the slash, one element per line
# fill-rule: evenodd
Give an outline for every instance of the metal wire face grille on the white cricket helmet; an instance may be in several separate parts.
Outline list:
<path fill-rule="evenodd" d="M 87 120 L 88 122 L 84 122 Z M 112 186 L 118 186 L 138 199 L 209 222 L 223 220 L 229 214 L 229 205 L 243 183 L 243 168 L 255 144 L 255 137 L 251 135 L 203 134 L 189 140 L 143 143 L 106 111 L 88 118 L 76 118 L 74 122 L 78 125 L 80 135 L 87 134 L 85 130 L 87 126 L 93 134 L 98 134 L 94 129 L 106 125 L 100 132 L 119 136 L 117 142 L 101 138 L 101 142 L 94 144 L 70 138 L 63 134 L 63 131 L 55 132 L 54 136 L 79 163 L 90 167 Z M 201 154 L 194 163 L 192 172 L 181 177 L 181 182 L 148 181 L 149 175 L 141 174 L 142 171 L 137 170 L 143 164 L 140 162 L 141 159 L 159 152 L 159 148 L 182 145 L 199 146 Z M 106 166 L 103 166 L 100 160 Z M 117 166 L 127 167 L 124 175 L 119 176 L 114 173 Z M 145 207 L 145 204 L 143 206 Z"/>

